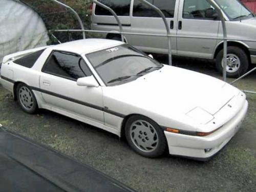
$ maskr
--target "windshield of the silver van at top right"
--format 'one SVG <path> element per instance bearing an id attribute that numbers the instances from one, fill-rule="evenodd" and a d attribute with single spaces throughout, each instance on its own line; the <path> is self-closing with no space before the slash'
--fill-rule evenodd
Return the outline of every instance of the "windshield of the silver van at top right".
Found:
<path id="1" fill-rule="evenodd" d="M 230 20 L 253 17 L 253 14 L 237 0 L 215 0 Z"/>

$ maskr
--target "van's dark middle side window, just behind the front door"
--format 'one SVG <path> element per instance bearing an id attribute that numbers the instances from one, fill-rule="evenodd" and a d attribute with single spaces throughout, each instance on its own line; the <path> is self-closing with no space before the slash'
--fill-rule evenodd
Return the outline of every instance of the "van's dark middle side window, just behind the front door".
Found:
<path id="1" fill-rule="evenodd" d="M 147 2 L 158 7 L 165 17 L 173 18 L 176 0 L 147 0 Z M 135 17 L 160 17 L 160 15 L 152 8 L 145 4 L 142 4 L 138 0 L 134 0 L 133 4 L 133 16 Z"/>

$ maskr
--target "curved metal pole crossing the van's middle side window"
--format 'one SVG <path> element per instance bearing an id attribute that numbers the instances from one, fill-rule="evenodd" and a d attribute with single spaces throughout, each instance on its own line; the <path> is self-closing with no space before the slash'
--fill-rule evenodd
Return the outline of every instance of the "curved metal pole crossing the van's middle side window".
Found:
<path id="1" fill-rule="evenodd" d="M 169 65 L 172 66 L 172 40 L 171 40 L 171 37 L 170 37 L 170 29 L 169 29 L 169 26 L 168 26 L 168 23 L 167 23 L 167 20 L 163 14 L 163 12 L 156 6 L 152 5 L 151 3 L 148 3 L 147 1 L 145 0 L 139 0 L 141 3 L 144 3 L 146 4 L 147 6 L 153 8 L 163 19 L 163 22 L 164 22 L 164 25 L 165 25 L 165 28 L 166 28 L 166 31 L 167 31 L 167 38 L 168 38 L 168 57 L 169 57 Z"/>

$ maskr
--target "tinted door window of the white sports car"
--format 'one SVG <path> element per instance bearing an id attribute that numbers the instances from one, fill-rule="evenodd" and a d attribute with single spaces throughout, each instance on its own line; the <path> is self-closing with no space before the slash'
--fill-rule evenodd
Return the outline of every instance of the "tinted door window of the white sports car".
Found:
<path id="1" fill-rule="evenodd" d="M 92 75 L 81 57 L 57 51 L 51 54 L 42 71 L 71 80 Z"/>

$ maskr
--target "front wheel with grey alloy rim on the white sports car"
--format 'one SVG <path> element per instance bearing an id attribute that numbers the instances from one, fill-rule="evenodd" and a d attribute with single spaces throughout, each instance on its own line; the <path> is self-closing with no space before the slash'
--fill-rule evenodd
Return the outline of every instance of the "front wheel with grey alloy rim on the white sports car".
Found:
<path id="1" fill-rule="evenodd" d="M 144 157 L 159 157 L 166 148 L 166 138 L 161 127 L 142 115 L 134 115 L 126 121 L 125 137 L 133 150 Z"/>

